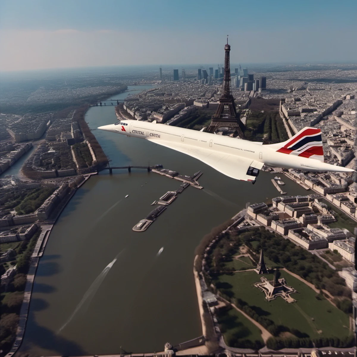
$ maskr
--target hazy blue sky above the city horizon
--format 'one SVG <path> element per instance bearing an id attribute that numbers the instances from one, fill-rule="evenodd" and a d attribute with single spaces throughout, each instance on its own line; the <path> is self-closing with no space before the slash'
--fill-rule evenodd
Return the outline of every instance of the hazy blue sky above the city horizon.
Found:
<path id="1" fill-rule="evenodd" d="M 357 1 L 0 0 L 0 70 L 357 62 Z"/>

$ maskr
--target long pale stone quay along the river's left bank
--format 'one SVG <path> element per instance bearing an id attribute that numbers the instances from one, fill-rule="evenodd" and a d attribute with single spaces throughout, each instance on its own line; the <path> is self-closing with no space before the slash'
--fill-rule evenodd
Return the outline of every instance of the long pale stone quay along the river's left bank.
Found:
<path id="1" fill-rule="evenodd" d="M 11 347 L 10 352 L 8 352 L 5 356 L 10 357 L 12 356 L 21 346 L 22 339 L 25 334 L 25 328 L 26 328 L 26 322 L 27 322 L 27 316 L 29 313 L 29 306 L 31 303 L 31 294 L 32 294 L 32 288 L 35 280 L 35 275 L 37 271 L 37 266 L 39 264 L 39 260 L 42 257 L 46 243 L 48 241 L 48 238 L 50 236 L 51 230 L 54 227 L 58 217 L 66 207 L 66 205 L 69 203 L 71 198 L 74 196 L 76 193 L 77 189 L 81 187 L 87 180 L 92 175 L 97 175 L 97 172 L 91 173 L 84 175 L 84 179 L 77 185 L 77 187 L 70 192 L 70 194 L 65 197 L 63 202 L 61 202 L 59 209 L 56 212 L 55 217 L 53 218 L 53 222 L 49 224 L 41 224 L 40 229 L 41 229 L 41 234 L 36 242 L 36 246 L 34 248 L 34 251 L 32 252 L 31 260 L 30 260 L 30 265 L 29 265 L 29 272 L 27 273 L 26 276 L 26 286 L 25 286 L 25 291 L 24 291 L 24 299 L 22 301 L 21 309 L 20 309 L 20 320 L 19 320 L 19 325 L 16 330 L 16 337 L 14 344 Z"/>

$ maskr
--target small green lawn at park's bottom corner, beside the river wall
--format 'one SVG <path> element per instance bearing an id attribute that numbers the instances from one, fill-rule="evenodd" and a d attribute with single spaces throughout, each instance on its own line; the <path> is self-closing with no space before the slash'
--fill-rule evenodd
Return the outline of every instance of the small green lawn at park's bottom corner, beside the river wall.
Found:
<path id="1" fill-rule="evenodd" d="M 236 309 L 231 308 L 225 315 L 217 317 L 227 344 L 233 336 L 239 336 L 242 340 L 258 340 L 264 343 L 259 328 Z"/>

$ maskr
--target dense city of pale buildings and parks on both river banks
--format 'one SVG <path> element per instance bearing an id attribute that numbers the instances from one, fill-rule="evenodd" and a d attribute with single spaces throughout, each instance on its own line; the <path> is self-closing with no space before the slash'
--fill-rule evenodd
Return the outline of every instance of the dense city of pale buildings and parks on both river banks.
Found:
<path id="1" fill-rule="evenodd" d="M 46 80 L 46 86 L 30 80 L 26 85 L 25 81 L 17 81 L 11 90 L 6 83 L 2 87 L 4 355 L 21 346 L 36 268 L 57 218 L 79 187 L 92 175 L 110 168 L 106 166 L 111 158 L 97 140 L 95 128 L 86 121 L 89 108 L 109 106 L 119 121 L 156 121 L 159 125 L 208 130 L 220 105 L 225 67 L 197 67 L 180 71 L 156 67 L 155 71 L 141 71 L 134 76 L 119 71 L 115 76 L 96 74 L 82 80 L 80 75 L 73 75 L 64 80 Z M 309 67 L 296 70 L 278 66 L 276 71 L 264 71 L 262 67 L 251 71 L 235 66 L 230 71 L 230 90 L 240 131 L 237 135 L 235 127 L 221 126 L 215 134 L 271 144 L 312 126 L 321 129 L 325 162 L 356 168 L 357 70 L 349 69 L 350 65 Z M 134 90 L 132 85 L 148 84 L 151 87 L 130 92 Z M 120 102 L 105 100 L 125 92 L 127 96 Z M 8 175 L 8 170 L 24 157 L 16 174 Z M 130 172 L 131 167 L 136 166 L 110 170 L 126 168 Z M 186 182 L 183 188 L 189 184 L 199 186 L 195 177 L 200 171 L 183 176 L 160 165 L 154 167 L 156 171 L 148 165 L 147 171 L 176 177 Z M 240 207 L 243 209 L 232 219 L 226 217 L 228 221 L 219 227 L 212 229 L 206 222 L 207 230 L 212 231 L 196 248 L 192 265 L 202 336 L 176 346 L 166 343 L 159 353 L 140 352 L 150 356 L 270 356 L 288 352 L 319 356 L 327 353 L 324 351 L 331 354 L 331 350 L 336 354 L 355 353 L 356 172 L 312 173 L 268 166 L 262 171 L 271 175 L 277 196 L 267 200 L 262 197 L 263 202 L 246 202 L 245 208 Z M 283 191 L 282 177 L 297 183 L 306 195 L 288 195 Z M 153 222 L 176 193 L 168 191 L 169 196 L 152 203 L 159 203 L 158 208 L 142 221 Z M 139 221 L 140 217 L 136 218 Z M 133 230 L 141 231 L 141 227 L 134 226 Z M 292 312 L 290 306 L 296 311 Z M 329 327 L 333 324 L 335 328 Z"/>

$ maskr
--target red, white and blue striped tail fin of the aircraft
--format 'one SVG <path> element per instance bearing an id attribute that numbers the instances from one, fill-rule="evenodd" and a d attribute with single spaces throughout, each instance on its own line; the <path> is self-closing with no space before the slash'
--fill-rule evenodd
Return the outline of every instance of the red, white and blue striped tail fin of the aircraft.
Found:
<path id="1" fill-rule="evenodd" d="M 268 145 L 277 152 L 309 157 L 323 162 L 321 130 L 306 126 L 289 140 Z"/>

